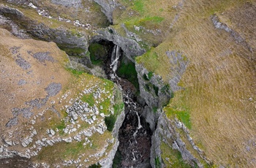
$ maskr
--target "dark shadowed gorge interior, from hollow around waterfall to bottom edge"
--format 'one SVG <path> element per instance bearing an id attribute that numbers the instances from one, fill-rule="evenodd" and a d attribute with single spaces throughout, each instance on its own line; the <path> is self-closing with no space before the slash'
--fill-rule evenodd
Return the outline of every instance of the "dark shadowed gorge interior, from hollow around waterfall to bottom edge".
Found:
<path id="1" fill-rule="evenodd" d="M 120 143 L 113 167 L 151 167 L 152 131 L 141 116 L 145 104 L 139 104 L 137 101 L 139 84 L 135 64 L 124 56 L 121 48 L 108 40 L 97 39 L 91 44 L 93 47 L 101 47 L 90 50 L 91 58 L 97 58 L 97 62 L 92 62 L 101 65 L 108 79 L 117 83 L 123 91 L 126 117 L 119 129 Z M 89 49 L 93 47 L 90 45 Z M 116 58 L 118 61 L 115 62 Z M 113 68 L 114 64 L 116 69 Z"/>

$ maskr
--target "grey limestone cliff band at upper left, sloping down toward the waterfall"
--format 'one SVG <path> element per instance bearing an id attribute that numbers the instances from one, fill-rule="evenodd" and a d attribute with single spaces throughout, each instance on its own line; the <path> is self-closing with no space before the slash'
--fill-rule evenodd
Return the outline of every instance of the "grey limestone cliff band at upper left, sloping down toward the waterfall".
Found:
<path id="1" fill-rule="evenodd" d="M 43 23 L 38 23 L 37 20 L 30 20 L 18 9 L 4 5 L 0 7 L 0 14 L 12 20 L 18 29 L 22 28 L 23 34 L 47 42 L 56 42 L 63 50 L 69 49 L 71 56 L 86 56 L 88 52 L 88 39 L 83 34 L 73 34 L 65 28 L 49 28 Z M 13 31 L 12 33 L 17 34 Z"/>

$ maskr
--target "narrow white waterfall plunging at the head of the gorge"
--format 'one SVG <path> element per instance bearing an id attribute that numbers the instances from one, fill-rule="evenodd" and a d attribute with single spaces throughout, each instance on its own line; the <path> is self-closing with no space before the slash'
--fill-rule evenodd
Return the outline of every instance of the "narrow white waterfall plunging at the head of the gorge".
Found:
<path id="1" fill-rule="evenodd" d="M 119 59 L 120 55 L 121 55 L 120 47 L 115 45 L 113 47 L 113 51 L 111 53 L 111 64 L 110 64 L 110 69 L 113 70 L 113 74 L 110 75 L 112 80 L 117 77 L 116 69 L 117 69 L 117 66 L 118 66 L 118 59 Z"/>

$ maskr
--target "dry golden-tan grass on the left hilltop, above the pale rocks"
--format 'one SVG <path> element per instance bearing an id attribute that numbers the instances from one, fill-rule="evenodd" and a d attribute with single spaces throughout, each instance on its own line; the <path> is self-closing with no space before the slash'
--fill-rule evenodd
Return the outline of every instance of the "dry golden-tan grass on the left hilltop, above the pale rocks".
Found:
<path id="1" fill-rule="evenodd" d="M 12 108 L 25 108 L 28 107 L 26 102 L 30 100 L 45 98 L 47 96 L 45 88 L 50 83 L 61 83 L 62 87 L 66 87 L 71 75 L 64 70 L 64 64 L 68 61 L 67 55 L 59 50 L 55 43 L 17 39 L 4 29 L 0 29 L 0 37 L 0 131 L 3 136 L 14 131 L 15 140 L 19 141 L 20 138 L 26 137 L 29 132 L 30 124 L 26 123 L 29 118 L 23 118 L 20 114 L 18 117 L 19 125 L 7 129 L 5 124 L 13 118 Z M 18 53 L 11 53 L 11 47 L 20 47 L 20 49 L 18 49 Z M 33 58 L 28 51 L 32 53 L 50 52 L 50 56 L 53 56 L 55 61 L 45 61 L 47 65 L 45 66 Z M 24 70 L 15 63 L 18 54 L 31 65 L 30 69 Z M 26 84 L 18 85 L 20 80 L 26 80 Z M 56 101 L 56 96 L 50 97 L 45 106 L 52 106 L 50 105 L 52 100 Z M 34 108 L 31 111 L 34 112 L 33 115 L 37 115 L 38 112 L 42 112 L 42 109 Z M 18 150 L 18 147 L 15 150 Z"/>

